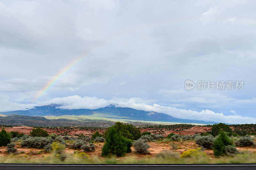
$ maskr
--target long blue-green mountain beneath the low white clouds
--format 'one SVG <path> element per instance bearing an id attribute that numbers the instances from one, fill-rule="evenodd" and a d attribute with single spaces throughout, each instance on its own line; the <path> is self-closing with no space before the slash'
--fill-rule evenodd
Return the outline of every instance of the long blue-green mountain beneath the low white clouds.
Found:
<path id="1" fill-rule="evenodd" d="M 50 104 L 46 106 L 36 106 L 29 110 L 17 110 L 17 111 L 9 111 L 9 112 L 0 112 L 3 115 L 25 115 L 28 116 L 28 119 L 32 116 L 61 116 L 61 115 L 94 115 L 101 114 L 103 117 L 111 118 L 111 117 L 120 117 L 127 118 L 134 121 L 164 121 L 164 122 L 178 122 L 178 123 L 197 123 L 197 124 L 215 124 L 216 122 L 206 122 L 201 120 L 190 120 L 190 119 L 180 119 L 175 118 L 167 114 L 157 113 L 154 111 L 143 111 L 136 110 L 132 108 L 121 108 L 116 107 L 115 105 L 109 105 L 104 108 L 99 109 L 72 109 L 72 110 L 63 110 L 59 109 L 61 105 Z M 10 115 L 10 116 L 11 116 Z M 6 117 L 5 117 L 6 118 Z M 25 117 L 24 117 L 25 118 Z M 30 120 L 30 119 L 29 119 Z M 48 120 L 48 119 L 47 119 Z"/>

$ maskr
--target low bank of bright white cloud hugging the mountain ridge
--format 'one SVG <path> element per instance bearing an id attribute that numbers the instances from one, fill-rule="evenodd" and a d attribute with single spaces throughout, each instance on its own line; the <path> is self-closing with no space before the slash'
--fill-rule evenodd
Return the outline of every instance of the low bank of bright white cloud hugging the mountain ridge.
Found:
<path id="1" fill-rule="evenodd" d="M 225 116 L 223 113 L 215 113 L 211 110 L 202 110 L 200 112 L 193 110 L 177 109 L 175 107 L 161 106 L 159 104 L 149 105 L 146 103 L 152 103 L 154 101 L 145 100 L 140 98 L 112 98 L 110 100 L 98 99 L 97 97 L 80 97 L 80 96 L 68 96 L 63 98 L 54 98 L 52 100 L 38 103 L 38 104 L 62 104 L 61 109 L 97 109 L 102 108 L 110 104 L 115 104 L 117 107 L 129 107 L 137 110 L 156 111 L 171 115 L 172 117 L 183 119 L 204 120 L 213 122 L 224 122 L 233 124 L 242 123 L 256 123 L 256 118 L 244 117 L 244 116 Z"/>

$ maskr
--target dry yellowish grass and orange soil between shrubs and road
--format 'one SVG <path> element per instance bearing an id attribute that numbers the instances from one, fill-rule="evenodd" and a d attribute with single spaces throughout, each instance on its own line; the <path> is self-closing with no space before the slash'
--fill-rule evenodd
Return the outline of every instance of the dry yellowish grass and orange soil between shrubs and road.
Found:
<path id="1" fill-rule="evenodd" d="M 152 164 L 206 164 L 206 163 L 256 163 L 256 148 L 255 147 L 238 147 L 238 150 L 241 152 L 235 157 L 220 157 L 214 158 L 212 150 L 205 150 L 206 153 L 200 157 L 191 157 L 191 158 L 181 158 L 179 155 L 188 150 L 195 149 L 198 145 L 195 144 L 195 141 L 183 141 L 183 142 L 173 142 L 173 141 L 157 141 L 157 142 L 148 142 L 150 145 L 148 154 L 138 154 L 132 147 L 132 153 L 126 154 L 124 157 L 111 157 L 103 158 L 100 156 L 101 147 L 104 143 L 96 143 L 94 152 L 87 152 L 88 156 L 78 156 L 74 154 L 73 149 L 66 148 L 65 153 L 67 159 L 63 162 L 60 159 L 54 157 L 53 153 L 43 153 L 39 149 L 34 148 L 20 148 L 18 145 L 18 154 L 7 154 L 6 147 L 0 147 L 0 163 L 77 163 L 77 164 L 103 164 L 103 163 L 119 163 L 119 164 L 140 164 L 140 163 L 152 163 Z M 177 146 L 173 148 L 172 145 Z M 179 147 L 181 149 L 179 149 Z M 24 153 L 20 153 L 20 152 Z M 174 152 L 178 156 L 161 156 L 156 157 L 159 153 L 163 152 Z M 39 153 L 38 153 L 39 152 Z M 81 152 L 81 151 L 80 151 Z"/>

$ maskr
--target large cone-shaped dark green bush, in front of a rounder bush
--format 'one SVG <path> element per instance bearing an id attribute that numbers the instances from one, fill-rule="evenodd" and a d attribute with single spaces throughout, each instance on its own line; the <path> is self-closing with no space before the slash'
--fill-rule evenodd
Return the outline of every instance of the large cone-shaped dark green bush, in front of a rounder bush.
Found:
<path id="1" fill-rule="evenodd" d="M 115 127 L 109 129 L 105 145 L 102 148 L 102 156 L 116 155 L 118 157 L 124 156 L 129 150 L 127 145 L 127 139 L 125 139 L 120 132 L 116 131 Z"/>

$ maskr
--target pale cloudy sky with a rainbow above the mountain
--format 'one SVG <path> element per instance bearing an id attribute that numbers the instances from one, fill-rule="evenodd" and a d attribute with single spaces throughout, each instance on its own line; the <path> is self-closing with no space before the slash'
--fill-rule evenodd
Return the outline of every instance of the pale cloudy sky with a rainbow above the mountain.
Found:
<path id="1" fill-rule="evenodd" d="M 115 104 L 256 123 L 255 1 L 0 2 L 0 111 Z M 195 83 L 185 89 L 185 81 Z M 244 81 L 243 89 L 197 89 Z"/>

